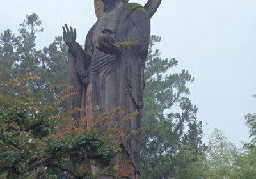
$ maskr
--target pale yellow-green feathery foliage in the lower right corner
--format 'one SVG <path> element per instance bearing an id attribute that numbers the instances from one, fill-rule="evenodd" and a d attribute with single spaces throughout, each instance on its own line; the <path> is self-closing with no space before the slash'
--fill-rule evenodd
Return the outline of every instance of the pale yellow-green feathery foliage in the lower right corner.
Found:
<path id="1" fill-rule="evenodd" d="M 202 178 L 256 178 L 256 150 L 245 146 L 237 149 L 227 142 L 223 132 L 215 130 L 209 139 L 205 157 L 197 165 L 202 166 Z"/>

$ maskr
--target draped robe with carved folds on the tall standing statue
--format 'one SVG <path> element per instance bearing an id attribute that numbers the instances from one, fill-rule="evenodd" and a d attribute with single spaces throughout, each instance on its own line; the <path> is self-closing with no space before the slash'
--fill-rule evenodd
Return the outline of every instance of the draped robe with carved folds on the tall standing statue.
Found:
<path id="1" fill-rule="evenodd" d="M 115 44 L 121 47 L 119 56 L 104 54 L 96 48 L 102 29 L 113 31 Z M 70 109 L 93 109 L 98 105 L 102 111 L 120 107 L 126 114 L 139 112 L 122 127 L 122 132 L 130 137 L 123 144 L 124 155 L 116 160 L 123 164 L 125 162 L 120 160 L 131 160 L 138 174 L 141 172 L 140 134 L 129 134 L 141 126 L 149 36 L 150 18 L 145 9 L 139 4 L 124 4 L 96 22 L 88 32 L 84 49 L 77 43 L 75 54 L 69 52 L 69 82 L 79 92 L 70 100 Z M 88 114 L 75 112 L 72 116 L 79 119 L 91 114 L 92 111 Z M 120 173 L 127 175 L 125 171 L 122 172 L 122 164 L 118 165 L 121 167 Z"/>

